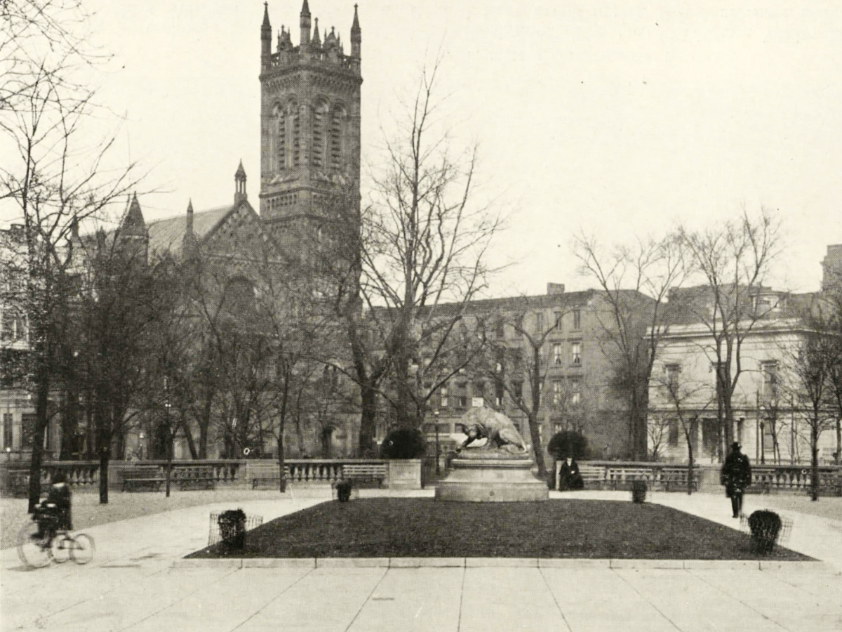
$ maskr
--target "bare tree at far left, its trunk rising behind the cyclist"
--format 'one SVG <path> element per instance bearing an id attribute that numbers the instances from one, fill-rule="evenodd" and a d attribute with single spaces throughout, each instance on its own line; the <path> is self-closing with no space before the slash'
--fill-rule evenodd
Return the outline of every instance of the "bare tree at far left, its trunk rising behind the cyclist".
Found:
<path id="1" fill-rule="evenodd" d="M 105 169 L 114 137 L 86 145 L 83 123 L 93 94 L 65 94 L 56 73 L 35 70 L 14 110 L 0 111 L 3 147 L 17 153 L 0 167 L 0 204 L 17 212 L 24 230 L 27 281 L 23 311 L 29 316 L 29 374 L 35 391 L 35 431 L 29 508 L 40 495 L 48 401 L 59 356 L 56 319 L 67 309 L 73 265 L 72 233 L 80 222 L 109 212 L 136 185 L 131 165 Z M 11 155 L 11 153 L 9 154 Z"/>

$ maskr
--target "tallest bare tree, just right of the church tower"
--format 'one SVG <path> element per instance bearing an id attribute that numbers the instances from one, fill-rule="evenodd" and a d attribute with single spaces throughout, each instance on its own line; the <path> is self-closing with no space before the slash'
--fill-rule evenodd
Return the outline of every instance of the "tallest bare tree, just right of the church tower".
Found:
<path id="1" fill-rule="evenodd" d="M 419 380 L 413 367 L 424 355 L 444 362 L 466 303 L 492 271 L 485 255 L 501 223 L 473 200 L 476 148 L 456 153 L 449 131 L 439 132 L 438 70 L 436 62 L 422 72 L 406 120 L 386 140 L 370 204 L 359 217 L 345 216 L 347 254 L 330 253 L 340 266 L 333 281 L 341 280 L 334 291 L 349 338 L 349 376 L 360 387 L 361 453 L 371 449 L 382 395 L 400 425 L 421 425 L 445 375 Z"/>

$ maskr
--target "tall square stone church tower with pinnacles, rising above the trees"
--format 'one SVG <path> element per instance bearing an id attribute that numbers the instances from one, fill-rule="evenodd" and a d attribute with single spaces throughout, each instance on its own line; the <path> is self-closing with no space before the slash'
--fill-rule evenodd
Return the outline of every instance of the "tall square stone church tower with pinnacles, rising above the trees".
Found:
<path id="1" fill-rule="evenodd" d="M 307 0 L 299 17 L 298 46 L 282 25 L 272 51 L 268 5 L 260 29 L 260 217 L 281 244 L 299 243 L 298 231 L 320 230 L 338 199 L 356 213 L 360 205 L 357 7 L 350 55 L 333 27 L 319 33 Z"/>

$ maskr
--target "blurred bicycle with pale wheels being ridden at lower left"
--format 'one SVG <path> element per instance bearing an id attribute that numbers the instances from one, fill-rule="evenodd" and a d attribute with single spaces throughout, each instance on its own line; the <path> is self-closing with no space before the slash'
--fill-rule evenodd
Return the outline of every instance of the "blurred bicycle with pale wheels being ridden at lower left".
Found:
<path id="1" fill-rule="evenodd" d="M 18 533 L 18 557 L 29 568 L 42 568 L 51 561 L 62 564 L 73 560 L 88 564 L 93 560 L 93 538 L 87 533 L 75 535 L 56 528 L 58 518 L 50 507 L 37 505 L 32 520 Z"/>

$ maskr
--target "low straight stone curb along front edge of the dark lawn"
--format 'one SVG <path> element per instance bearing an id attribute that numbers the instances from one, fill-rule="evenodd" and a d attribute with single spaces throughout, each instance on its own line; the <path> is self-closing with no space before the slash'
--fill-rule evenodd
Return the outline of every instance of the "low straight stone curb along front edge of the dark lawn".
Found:
<path id="1" fill-rule="evenodd" d="M 623 570 L 834 570 L 802 560 L 615 560 L 589 558 L 322 557 L 179 558 L 171 568 L 560 568 Z"/>

